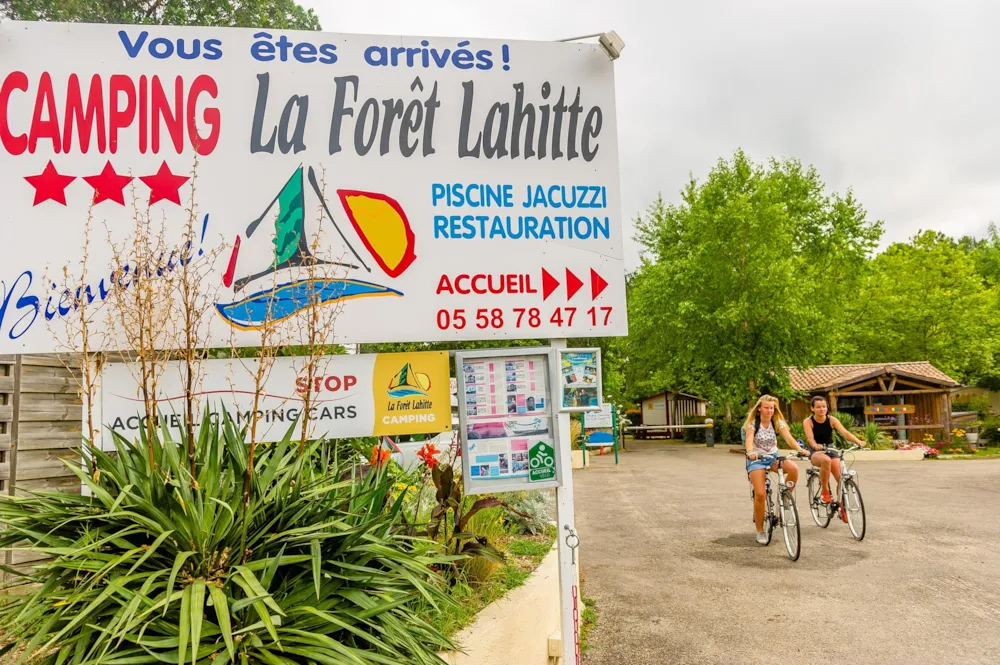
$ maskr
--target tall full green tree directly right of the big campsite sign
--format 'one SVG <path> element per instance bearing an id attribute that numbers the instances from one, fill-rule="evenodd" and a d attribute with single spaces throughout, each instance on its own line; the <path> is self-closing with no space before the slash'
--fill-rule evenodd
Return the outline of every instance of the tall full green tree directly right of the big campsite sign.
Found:
<path id="1" fill-rule="evenodd" d="M 742 151 L 637 228 L 647 253 L 629 284 L 629 390 L 687 390 L 727 411 L 763 388 L 787 393 L 784 367 L 839 352 L 840 313 L 882 232 L 813 168 Z"/>

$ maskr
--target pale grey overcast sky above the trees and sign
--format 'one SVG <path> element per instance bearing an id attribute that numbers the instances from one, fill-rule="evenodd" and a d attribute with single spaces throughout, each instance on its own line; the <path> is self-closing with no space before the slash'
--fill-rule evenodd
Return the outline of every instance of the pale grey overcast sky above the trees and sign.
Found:
<path id="1" fill-rule="evenodd" d="M 795 157 L 885 222 L 982 235 L 1000 208 L 1000 3 L 954 0 L 300 0 L 323 30 L 561 39 L 616 30 L 631 220 L 742 147 Z"/>

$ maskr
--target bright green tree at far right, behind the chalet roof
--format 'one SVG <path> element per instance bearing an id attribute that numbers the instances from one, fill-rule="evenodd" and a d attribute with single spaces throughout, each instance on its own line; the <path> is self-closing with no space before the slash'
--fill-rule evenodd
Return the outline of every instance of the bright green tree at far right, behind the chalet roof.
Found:
<path id="1" fill-rule="evenodd" d="M 857 360 L 929 360 L 959 381 L 1000 378 L 1000 287 L 941 233 L 896 243 L 872 263 L 853 329 Z"/>

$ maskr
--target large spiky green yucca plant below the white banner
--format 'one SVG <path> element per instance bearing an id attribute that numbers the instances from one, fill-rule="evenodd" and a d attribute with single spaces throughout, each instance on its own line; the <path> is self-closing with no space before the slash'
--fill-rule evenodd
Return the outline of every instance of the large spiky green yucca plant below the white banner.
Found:
<path id="1" fill-rule="evenodd" d="M 91 496 L 0 497 L 0 547 L 49 557 L 3 597 L 0 631 L 20 642 L 3 652 L 43 665 L 442 663 L 453 645 L 411 610 L 454 602 L 432 572 L 453 557 L 405 534 L 385 467 L 323 460 L 320 442 L 300 454 L 293 430 L 257 446 L 246 507 L 244 432 L 207 417 L 197 477 L 164 429 L 67 463 Z"/>

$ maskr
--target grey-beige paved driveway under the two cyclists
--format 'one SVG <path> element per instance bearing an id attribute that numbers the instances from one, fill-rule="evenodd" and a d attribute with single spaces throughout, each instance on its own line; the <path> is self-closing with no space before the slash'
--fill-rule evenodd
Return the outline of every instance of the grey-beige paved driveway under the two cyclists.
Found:
<path id="1" fill-rule="evenodd" d="M 1000 662 L 1000 460 L 856 463 L 860 543 L 813 524 L 803 472 L 792 562 L 780 531 L 754 540 L 728 446 L 629 449 L 574 474 L 600 613 L 584 665 Z"/>

